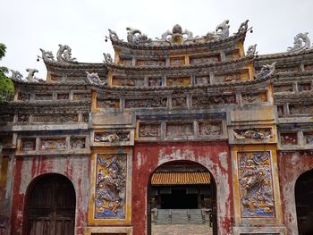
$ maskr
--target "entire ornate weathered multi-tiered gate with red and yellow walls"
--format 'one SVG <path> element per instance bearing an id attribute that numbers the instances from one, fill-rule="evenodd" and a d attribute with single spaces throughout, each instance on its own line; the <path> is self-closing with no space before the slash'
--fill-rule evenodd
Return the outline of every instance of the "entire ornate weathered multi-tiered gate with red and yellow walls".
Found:
<path id="1" fill-rule="evenodd" d="M 203 37 L 180 25 L 155 40 L 127 30 L 127 41 L 109 30 L 115 55 L 104 63 L 78 63 L 59 45 L 56 58 L 41 49 L 47 80 L 13 71 L 14 100 L 0 104 L 0 233 L 28 233 L 28 189 L 56 173 L 75 191 L 77 235 L 151 234 L 162 209 L 171 226 L 155 234 L 186 233 L 179 224 L 298 234 L 310 212 L 297 219 L 294 188 L 313 168 L 307 33 L 286 52 L 258 55 L 243 47 L 248 21 L 233 35 L 228 21 Z M 200 231 L 209 225 L 197 210 L 212 212 L 214 230 Z"/>

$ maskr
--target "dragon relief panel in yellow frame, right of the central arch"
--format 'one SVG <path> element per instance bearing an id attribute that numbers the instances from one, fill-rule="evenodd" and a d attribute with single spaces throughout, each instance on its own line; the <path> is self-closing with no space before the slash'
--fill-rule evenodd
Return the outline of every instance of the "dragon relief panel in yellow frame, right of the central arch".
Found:
<path id="1" fill-rule="evenodd" d="M 275 217 L 270 151 L 239 152 L 242 217 Z"/>

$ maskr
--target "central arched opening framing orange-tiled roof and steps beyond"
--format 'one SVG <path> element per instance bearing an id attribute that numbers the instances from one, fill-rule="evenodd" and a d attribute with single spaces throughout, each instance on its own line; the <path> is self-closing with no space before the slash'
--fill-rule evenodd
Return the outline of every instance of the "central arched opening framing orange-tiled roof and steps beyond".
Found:
<path id="1" fill-rule="evenodd" d="M 217 234 L 216 183 L 207 168 L 190 161 L 174 161 L 152 173 L 148 186 L 148 234 L 161 234 L 160 231 Z"/>

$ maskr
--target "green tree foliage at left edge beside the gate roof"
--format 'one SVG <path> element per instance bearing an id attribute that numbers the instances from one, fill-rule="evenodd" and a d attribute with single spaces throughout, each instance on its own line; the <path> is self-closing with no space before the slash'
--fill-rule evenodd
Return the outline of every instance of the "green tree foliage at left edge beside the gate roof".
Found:
<path id="1" fill-rule="evenodd" d="M 0 60 L 4 57 L 6 46 L 0 43 Z M 0 102 L 13 100 L 14 85 L 5 74 L 8 72 L 8 68 L 0 66 Z"/>

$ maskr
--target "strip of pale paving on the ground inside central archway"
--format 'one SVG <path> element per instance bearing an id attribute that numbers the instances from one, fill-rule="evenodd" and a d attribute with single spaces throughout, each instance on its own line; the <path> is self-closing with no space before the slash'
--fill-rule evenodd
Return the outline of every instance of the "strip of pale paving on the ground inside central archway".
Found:
<path id="1" fill-rule="evenodd" d="M 151 224 L 152 235 L 211 235 L 213 229 L 208 225 L 204 224 Z"/>

